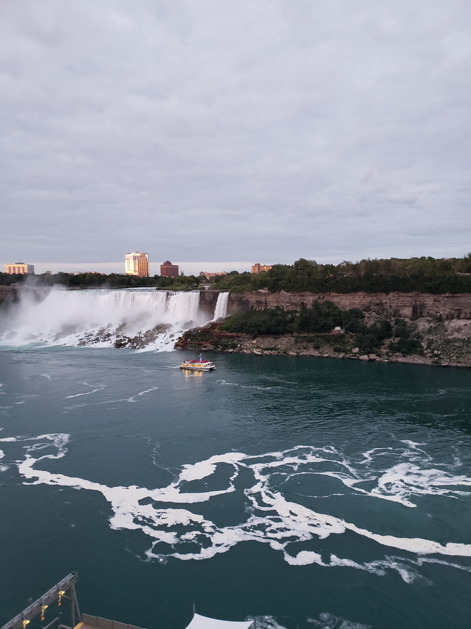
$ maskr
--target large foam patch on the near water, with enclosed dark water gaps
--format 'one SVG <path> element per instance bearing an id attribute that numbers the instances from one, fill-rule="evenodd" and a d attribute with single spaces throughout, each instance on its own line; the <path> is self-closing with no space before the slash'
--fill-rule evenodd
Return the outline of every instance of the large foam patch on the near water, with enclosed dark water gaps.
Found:
<path id="1" fill-rule="evenodd" d="M 471 572 L 471 567 L 441 559 L 471 557 L 471 544 L 453 540 L 439 543 L 420 537 L 375 533 L 364 526 L 306 506 L 308 501 L 312 504 L 313 499 L 325 496 L 313 496 L 299 489 L 293 491 L 301 477 L 303 482 L 311 479 L 311 487 L 315 487 L 322 477 L 329 477 L 344 488 L 344 494 L 337 491 L 333 495 L 355 494 L 370 501 L 392 501 L 397 503 L 396 509 L 414 508 L 414 499 L 425 495 L 457 499 L 468 497 L 471 478 L 464 474 L 453 475 L 451 471 L 440 469 L 440 466 L 431 466 L 430 457 L 418 443 L 402 442 L 404 446 L 400 448 L 375 448 L 363 453 L 354 462 L 345 459 L 333 447 L 300 445 L 256 456 L 227 452 L 183 465 L 178 477 L 168 486 L 147 489 L 138 486 L 108 487 L 40 469 L 41 461 L 60 459 L 67 454 L 68 440 L 65 433 L 0 439 L 2 447 L 16 447 L 9 462 L 0 450 L 3 470 L 17 465 L 26 484 L 32 486 L 48 484 L 101 493 L 111 504 L 113 515 L 109 523 L 112 529 L 140 531 L 149 537 L 151 545 L 145 553 L 148 560 L 165 563 L 170 557 L 180 560 L 210 559 L 238 543 L 256 541 L 282 553 L 290 565 L 350 567 L 377 576 L 393 570 L 408 583 L 428 582 L 418 571 L 427 562 Z M 25 450 L 21 460 L 18 447 Z M 43 454 L 37 456 L 41 451 Z M 388 462 L 394 458 L 401 462 L 388 467 L 384 465 L 385 457 Z M 208 488 L 212 485 L 214 489 Z M 370 487 L 366 488 L 367 485 Z M 309 486 L 304 484 L 304 487 Z M 227 506 L 231 494 L 238 501 L 241 497 L 244 500 L 244 511 L 240 513 L 239 509 L 239 517 L 243 521 L 224 523 L 221 518 L 228 517 L 225 513 L 234 517 L 234 509 L 218 508 L 214 513 L 215 504 L 218 504 L 218 497 L 224 496 Z M 190 505 L 193 505 L 192 509 Z M 212 513 L 211 517 L 205 515 L 205 509 Z M 400 516 L 398 513 L 396 525 Z M 332 552 L 326 555 L 316 545 L 316 540 L 326 540 L 347 532 L 370 540 L 376 554 L 379 554 L 377 559 L 360 562 Z M 311 549 L 306 550 L 306 542 L 311 543 Z M 302 550 L 296 548 L 300 543 Z M 385 550 L 389 553 L 400 550 L 413 556 L 383 555 Z"/>

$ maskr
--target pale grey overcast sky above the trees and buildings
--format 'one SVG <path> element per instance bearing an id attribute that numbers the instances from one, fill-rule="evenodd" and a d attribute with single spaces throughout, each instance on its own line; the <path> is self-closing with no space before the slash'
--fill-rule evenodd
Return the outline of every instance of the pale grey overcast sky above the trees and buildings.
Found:
<path id="1" fill-rule="evenodd" d="M 471 250 L 469 0 L 1 0 L 3 262 Z"/>

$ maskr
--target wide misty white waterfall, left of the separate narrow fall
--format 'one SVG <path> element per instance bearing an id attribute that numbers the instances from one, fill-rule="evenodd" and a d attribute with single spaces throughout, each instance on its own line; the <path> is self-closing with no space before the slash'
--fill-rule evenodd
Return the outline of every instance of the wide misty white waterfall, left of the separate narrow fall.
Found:
<path id="1" fill-rule="evenodd" d="M 1 322 L 3 345 L 48 343 L 111 347 L 134 338 L 134 347 L 173 349 L 175 333 L 207 323 L 199 291 L 51 291 L 38 303 L 24 292 Z"/>

